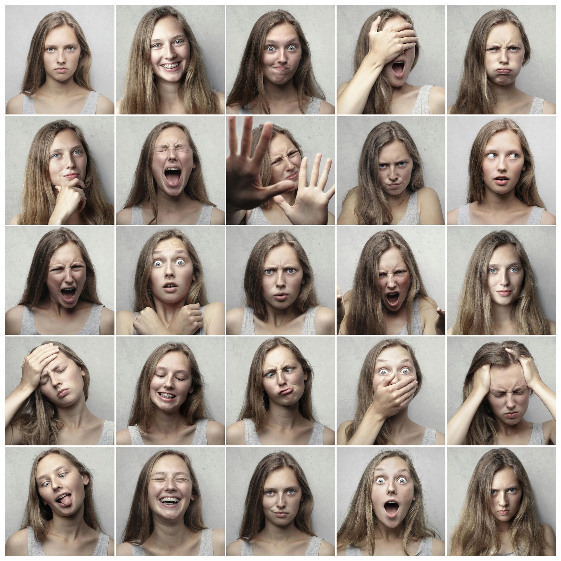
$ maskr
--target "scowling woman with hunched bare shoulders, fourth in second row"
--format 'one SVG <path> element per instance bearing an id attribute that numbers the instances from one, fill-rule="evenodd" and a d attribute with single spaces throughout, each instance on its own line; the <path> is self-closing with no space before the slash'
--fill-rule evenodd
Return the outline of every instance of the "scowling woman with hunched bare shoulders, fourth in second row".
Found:
<path id="1" fill-rule="evenodd" d="M 358 185 L 345 196 L 337 224 L 444 224 L 415 141 L 397 121 L 376 125 L 366 137 Z"/>

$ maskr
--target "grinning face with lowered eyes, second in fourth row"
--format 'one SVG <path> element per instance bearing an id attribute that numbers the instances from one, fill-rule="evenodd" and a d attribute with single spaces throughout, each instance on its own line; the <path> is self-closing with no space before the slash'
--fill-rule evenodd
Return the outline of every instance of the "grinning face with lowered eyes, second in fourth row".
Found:
<path id="1" fill-rule="evenodd" d="M 191 364 L 185 353 L 165 353 L 150 380 L 150 401 L 161 411 L 177 411 L 193 392 L 192 381 Z"/>

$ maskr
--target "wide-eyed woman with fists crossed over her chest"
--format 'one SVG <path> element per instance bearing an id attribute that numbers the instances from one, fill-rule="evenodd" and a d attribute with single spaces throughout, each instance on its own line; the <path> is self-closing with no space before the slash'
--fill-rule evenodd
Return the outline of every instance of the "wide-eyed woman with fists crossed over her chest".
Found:
<path id="1" fill-rule="evenodd" d="M 224 335 L 224 304 L 206 300 L 203 265 L 176 228 L 142 247 L 133 309 L 117 312 L 117 335 Z"/>

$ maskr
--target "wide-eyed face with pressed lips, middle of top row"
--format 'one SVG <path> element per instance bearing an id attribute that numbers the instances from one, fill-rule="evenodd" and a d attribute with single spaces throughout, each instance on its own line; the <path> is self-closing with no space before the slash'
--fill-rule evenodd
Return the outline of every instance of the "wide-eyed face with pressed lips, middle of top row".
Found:
<path id="1" fill-rule="evenodd" d="M 272 84 L 286 84 L 295 75 L 302 45 L 292 24 L 284 22 L 269 30 L 263 50 L 263 77 Z"/>

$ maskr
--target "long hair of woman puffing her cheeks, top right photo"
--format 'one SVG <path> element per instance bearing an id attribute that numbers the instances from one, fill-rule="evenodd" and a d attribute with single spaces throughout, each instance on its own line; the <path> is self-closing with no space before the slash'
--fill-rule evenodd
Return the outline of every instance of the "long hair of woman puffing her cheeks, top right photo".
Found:
<path id="1" fill-rule="evenodd" d="M 506 8 L 484 13 L 473 27 L 470 40 L 467 42 L 458 96 L 456 103 L 450 108 L 450 114 L 492 115 L 495 113 L 493 90 L 485 70 L 485 48 L 491 27 L 506 23 L 516 25 L 522 37 L 524 45 L 522 66 L 530 60 L 530 42 L 522 22 L 516 15 Z"/>

